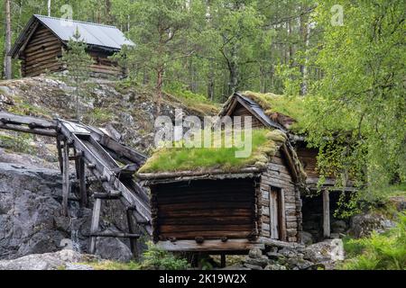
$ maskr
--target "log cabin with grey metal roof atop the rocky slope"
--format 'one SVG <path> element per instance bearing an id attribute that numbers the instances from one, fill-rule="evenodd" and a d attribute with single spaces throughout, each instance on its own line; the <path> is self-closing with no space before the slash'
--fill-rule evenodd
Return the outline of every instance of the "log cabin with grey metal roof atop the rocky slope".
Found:
<path id="1" fill-rule="evenodd" d="M 32 15 L 9 55 L 21 60 L 22 76 L 63 71 L 66 67 L 59 58 L 77 30 L 80 40 L 88 45 L 88 54 L 94 59 L 90 66 L 91 76 L 125 77 L 125 68 L 119 67 L 110 57 L 124 45 L 134 46 L 134 42 L 126 39 L 115 26 Z"/>

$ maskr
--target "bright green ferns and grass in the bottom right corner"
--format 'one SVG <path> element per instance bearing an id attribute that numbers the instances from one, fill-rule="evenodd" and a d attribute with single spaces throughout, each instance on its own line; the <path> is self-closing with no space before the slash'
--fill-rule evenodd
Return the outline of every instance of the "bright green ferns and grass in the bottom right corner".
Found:
<path id="1" fill-rule="evenodd" d="M 385 234 L 373 233 L 370 238 L 346 239 L 347 259 L 339 268 L 346 270 L 405 270 L 406 214 L 400 215 L 397 226 Z"/>

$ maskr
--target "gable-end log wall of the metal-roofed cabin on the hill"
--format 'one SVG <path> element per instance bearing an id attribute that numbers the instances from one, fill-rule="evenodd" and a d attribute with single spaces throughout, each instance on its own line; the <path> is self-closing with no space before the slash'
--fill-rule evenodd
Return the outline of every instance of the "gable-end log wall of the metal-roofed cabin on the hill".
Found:
<path id="1" fill-rule="evenodd" d="M 21 55 L 23 76 L 38 76 L 45 71 L 61 70 L 58 61 L 62 55 L 62 43 L 52 32 L 39 25 L 33 32 Z"/>

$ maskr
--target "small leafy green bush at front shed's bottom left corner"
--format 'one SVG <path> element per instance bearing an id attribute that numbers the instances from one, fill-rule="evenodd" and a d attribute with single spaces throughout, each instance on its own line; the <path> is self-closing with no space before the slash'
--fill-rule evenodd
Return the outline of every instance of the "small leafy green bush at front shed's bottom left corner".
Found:
<path id="1" fill-rule="evenodd" d="M 148 242 L 148 250 L 143 254 L 143 269 L 159 270 L 186 270 L 189 268 L 188 261 L 175 257 L 168 251 L 164 251 Z"/>

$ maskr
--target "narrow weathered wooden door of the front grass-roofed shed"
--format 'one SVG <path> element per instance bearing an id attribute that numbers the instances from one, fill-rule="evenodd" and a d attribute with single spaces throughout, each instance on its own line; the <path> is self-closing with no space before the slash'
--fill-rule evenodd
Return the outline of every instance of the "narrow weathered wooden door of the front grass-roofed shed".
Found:
<path id="1" fill-rule="evenodd" d="M 283 223 L 283 197 L 281 188 L 270 186 L 269 193 L 269 216 L 271 238 L 284 240 Z"/>

